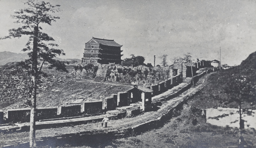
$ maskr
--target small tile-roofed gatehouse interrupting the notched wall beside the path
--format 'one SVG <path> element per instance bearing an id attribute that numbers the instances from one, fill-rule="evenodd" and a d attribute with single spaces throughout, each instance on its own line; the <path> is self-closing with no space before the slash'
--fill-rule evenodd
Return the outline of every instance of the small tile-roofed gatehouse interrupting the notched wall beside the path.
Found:
<path id="1" fill-rule="evenodd" d="M 137 87 L 127 90 L 129 102 L 131 103 L 138 103 L 141 102 L 141 108 L 143 111 L 147 112 L 150 111 L 152 108 L 152 90 L 148 89 L 147 87 Z"/>

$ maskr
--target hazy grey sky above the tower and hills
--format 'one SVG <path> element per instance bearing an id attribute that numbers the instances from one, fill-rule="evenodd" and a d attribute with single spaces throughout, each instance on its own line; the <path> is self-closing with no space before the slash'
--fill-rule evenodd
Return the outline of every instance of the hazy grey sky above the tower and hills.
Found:
<path id="1" fill-rule="evenodd" d="M 38 0 L 40 1 L 40 0 Z M 11 17 L 26 0 L 0 0 L 0 37 L 21 24 Z M 43 31 L 52 36 L 66 56 L 81 59 L 92 37 L 114 39 L 123 45 L 122 59 L 131 54 L 144 63 L 161 63 L 168 55 L 191 53 L 192 59 L 220 60 L 239 65 L 256 51 L 255 0 L 45 0 L 61 5 L 61 12 Z M 28 37 L 1 39 L 0 52 L 23 53 Z M 221 49 L 221 50 L 220 50 Z"/>

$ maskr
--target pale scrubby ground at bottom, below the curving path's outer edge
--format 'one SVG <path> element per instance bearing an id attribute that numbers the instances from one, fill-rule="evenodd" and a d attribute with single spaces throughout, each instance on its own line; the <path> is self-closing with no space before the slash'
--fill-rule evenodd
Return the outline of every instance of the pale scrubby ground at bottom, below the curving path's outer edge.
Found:
<path id="1" fill-rule="evenodd" d="M 215 75 L 215 73 L 213 73 Z M 200 79 L 198 84 L 207 84 L 209 75 Z M 209 81 L 208 81 L 209 82 Z M 196 84 L 196 85 L 198 85 Z M 106 140 L 95 144 L 87 143 L 79 145 L 65 145 L 66 148 L 227 148 L 236 147 L 239 139 L 239 129 L 230 127 L 212 126 L 206 123 L 206 118 L 201 115 L 200 109 L 207 106 L 218 106 L 218 102 L 204 97 L 202 89 L 198 95 L 192 97 L 183 105 L 175 117 L 169 120 L 162 128 L 147 131 L 136 137 Z M 247 129 L 242 132 L 247 145 L 256 148 L 256 131 Z M 82 145 L 82 146 L 81 146 Z M 63 146 L 60 148 L 64 148 Z"/>

